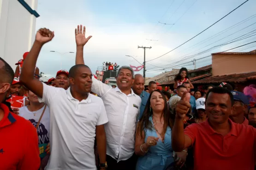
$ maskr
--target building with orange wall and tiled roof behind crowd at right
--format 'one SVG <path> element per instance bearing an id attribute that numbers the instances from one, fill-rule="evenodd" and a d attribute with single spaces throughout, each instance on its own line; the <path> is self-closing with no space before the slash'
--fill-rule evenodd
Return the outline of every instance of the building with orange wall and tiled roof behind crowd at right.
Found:
<path id="1" fill-rule="evenodd" d="M 188 72 L 195 89 L 208 84 L 232 83 L 237 90 L 256 84 L 256 50 L 250 52 L 217 52 L 212 64 Z M 161 83 L 172 88 L 174 80 Z"/>

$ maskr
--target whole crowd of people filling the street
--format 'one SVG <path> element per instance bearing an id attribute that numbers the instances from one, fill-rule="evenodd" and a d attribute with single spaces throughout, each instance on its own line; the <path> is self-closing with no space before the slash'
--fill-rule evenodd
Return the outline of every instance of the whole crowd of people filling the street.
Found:
<path id="1" fill-rule="evenodd" d="M 82 25 L 75 65 L 44 83 L 36 62 L 53 38 L 39 29 L 17 73 L 0 58 L 0 170 L 254 170 L 255 85 L 191 92 L 181 68 L 174 91 L 154 81 L 145 89 L 143 76 L 122 66 L 113 88 L 85 65 L 91 36 Z"/>

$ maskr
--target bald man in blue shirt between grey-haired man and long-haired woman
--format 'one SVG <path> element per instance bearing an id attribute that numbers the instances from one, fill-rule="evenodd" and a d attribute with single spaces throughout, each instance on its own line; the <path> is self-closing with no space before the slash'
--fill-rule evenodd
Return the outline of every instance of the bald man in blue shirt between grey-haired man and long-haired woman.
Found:
<path id="1" fill-rule="evenodd" d="M 144 88 L 145 88 L 144 84 L 145 84 L 145 80 L 143 76 L 141 74 L 135 74 L 132 90 L 135 94 L 137 94 L 141 98 L 140 115 L 138 119 L 142 117 L 144 108 L 149 98 L 149 93 L 144 91 Z"/>

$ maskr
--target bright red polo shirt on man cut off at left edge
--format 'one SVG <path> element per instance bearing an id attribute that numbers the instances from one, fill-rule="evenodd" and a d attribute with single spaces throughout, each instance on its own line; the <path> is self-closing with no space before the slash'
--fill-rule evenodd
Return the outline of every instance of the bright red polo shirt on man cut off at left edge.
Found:
<path id="1" fill-rule="evenodd" d="M 0 170 L 38 170 L 40 157 L 36 128 L 0 103 Z"/>

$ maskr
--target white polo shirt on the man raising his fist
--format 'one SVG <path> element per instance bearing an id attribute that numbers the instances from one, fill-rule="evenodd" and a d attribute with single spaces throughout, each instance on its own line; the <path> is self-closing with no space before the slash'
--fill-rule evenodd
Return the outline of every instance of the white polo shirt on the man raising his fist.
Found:
<path id="1" fill-rule="evenodd" d="M 46 170 L 97 170 L 94 142 L 97 125 L 108 122 L 100 97 L 89 94 L 79 102 L 67 90 L 43 84 L 44 101 L 50 109 L 51 156 Z"/>

